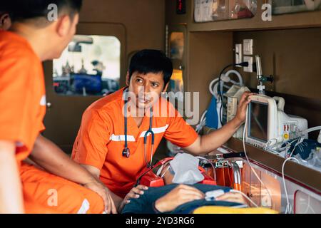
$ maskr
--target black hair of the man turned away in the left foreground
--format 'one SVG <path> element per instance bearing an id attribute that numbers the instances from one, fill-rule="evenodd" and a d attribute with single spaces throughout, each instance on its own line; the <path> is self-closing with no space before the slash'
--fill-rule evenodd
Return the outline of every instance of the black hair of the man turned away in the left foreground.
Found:
<path id="1" fill-rule="evenodd" d="M 56 4 L 58 15 L 66 12 L 73 19 L 81 11 L 82 0 L 6 0 L 0 8 L 9 12 L 12 21 L 26 21 L 47 19 L 50 4 Z"/>

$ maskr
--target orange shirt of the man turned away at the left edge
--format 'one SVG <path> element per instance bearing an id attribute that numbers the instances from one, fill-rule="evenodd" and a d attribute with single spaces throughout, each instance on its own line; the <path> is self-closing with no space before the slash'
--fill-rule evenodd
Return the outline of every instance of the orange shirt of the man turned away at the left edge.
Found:
<path id="1" fill-rule="evenodd" d="M 29 156 L 46 113 L 41 61 L 28 41 L 0 31 L 0 140 L 16 142 L 20 163 Z"/>

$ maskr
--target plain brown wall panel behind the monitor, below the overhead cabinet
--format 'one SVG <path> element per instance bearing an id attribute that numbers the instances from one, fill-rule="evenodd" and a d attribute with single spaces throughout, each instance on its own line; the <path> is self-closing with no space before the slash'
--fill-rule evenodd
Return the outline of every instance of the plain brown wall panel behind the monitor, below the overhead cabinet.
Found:
<path id="1" fill-rule="evenodd" d="M 321 100 L 321 28 L 234 33 L 234 43 L 244 38 L 253 38 L 253 57 L 261 56 L 263 74 L 275 76 L 267 89 Z M 240 72 L 256 88 L 256 74 Z"/>

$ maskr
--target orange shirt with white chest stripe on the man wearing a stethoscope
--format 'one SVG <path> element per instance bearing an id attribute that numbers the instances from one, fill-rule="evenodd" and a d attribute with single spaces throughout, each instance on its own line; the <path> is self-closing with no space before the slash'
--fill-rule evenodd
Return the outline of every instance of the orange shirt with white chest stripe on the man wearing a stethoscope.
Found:
<path id="1" fill-rule="evenodd" d="M 101 170 L 101 181 L 116 195 L 125 197 L 136 182 L 146 162 L 144 159 L 144 135 L 149 128 L 149 113 L 143 118 L 140 128 L 129 116 L 127 125 L 130 157 L 123 157 L 125 146 L 123 89 L 101 98 L 90 105 L 81 122 L 76 141 L 73 145 L 73 160 L 92 165 Z M 162 106 L 160 106 L 162 105 Z M 159 108 L 162 107 L 162 108 Z M 167 100 L 158 100 L 153 107 L 153 132 L 155 133 L 155 152 L 161 139 L 165 137 L 175 145 L 188 147 L 198 138 L 190 127 Z M 165 110 L 165 115 L 157 113 Z M 168 115 L 171 113 L 172 115 Z M 147 160 L 151 157 L 151 136 L 148 136 Z"/>

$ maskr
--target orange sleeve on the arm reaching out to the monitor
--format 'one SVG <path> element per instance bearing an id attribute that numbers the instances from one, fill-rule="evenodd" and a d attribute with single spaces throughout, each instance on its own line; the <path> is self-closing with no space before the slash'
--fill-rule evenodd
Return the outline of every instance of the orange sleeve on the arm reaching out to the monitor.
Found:
<path id="1" fill-rule="evenodd" d="M 164 137 L 173 144 L 179 147 L 188 147 L 198 138 L 198 133 L 185 122 L 183 117 L 175 110 L 173 105 L 168 105 L 169 114 L 168 128 L 165 131 Z"/>

